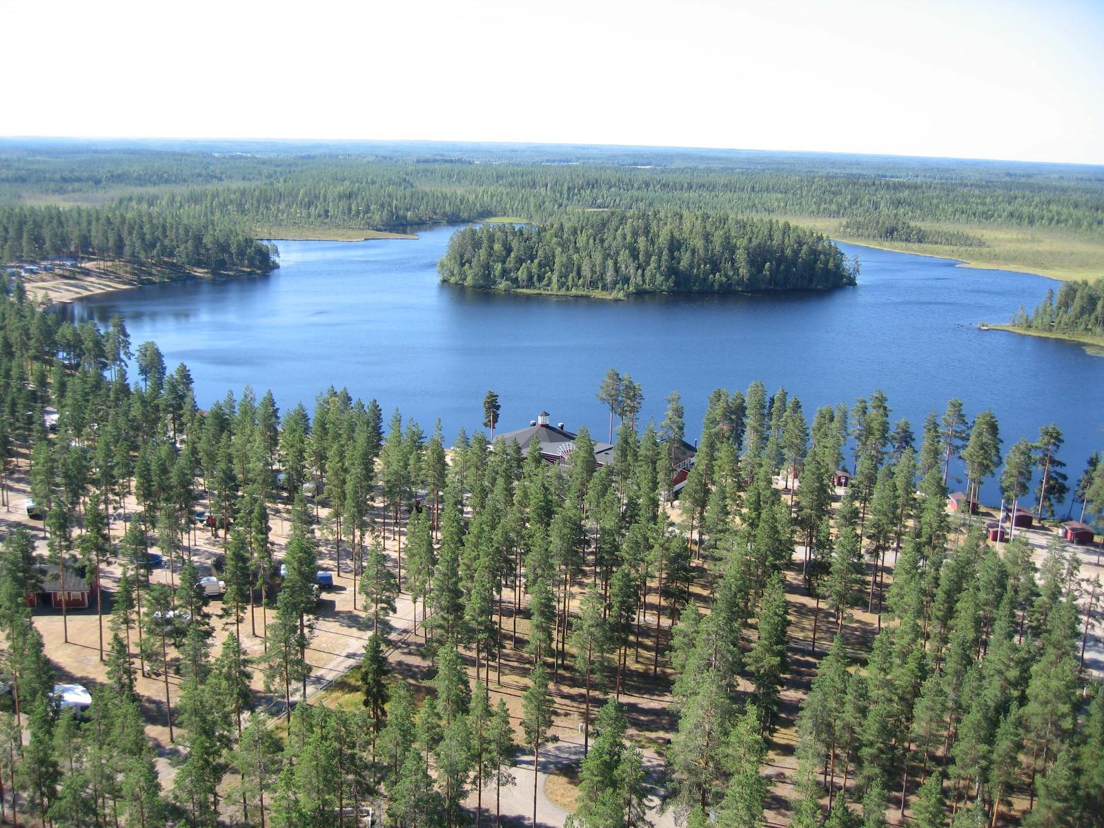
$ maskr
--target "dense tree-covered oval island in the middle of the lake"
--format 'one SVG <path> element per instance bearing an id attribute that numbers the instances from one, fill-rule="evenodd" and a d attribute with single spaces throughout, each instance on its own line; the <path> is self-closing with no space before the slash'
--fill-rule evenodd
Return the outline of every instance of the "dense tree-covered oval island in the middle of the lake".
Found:
<path id="1" fill-rule="evenodd" d="M 571 213 L 457 232 L 442 279 L 499 290 L 735 293 L 853 285 L 830 241 L 773 220 L 704 212 Z"/>

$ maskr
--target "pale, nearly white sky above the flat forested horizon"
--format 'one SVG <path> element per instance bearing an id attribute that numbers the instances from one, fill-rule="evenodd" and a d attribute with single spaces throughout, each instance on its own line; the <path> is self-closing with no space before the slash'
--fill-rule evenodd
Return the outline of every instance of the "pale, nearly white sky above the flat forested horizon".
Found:
<path id="1" fill-rule="evenodd" d="M 0 0 L 0 136 L 1104 163 L 1104 0 Z"/>

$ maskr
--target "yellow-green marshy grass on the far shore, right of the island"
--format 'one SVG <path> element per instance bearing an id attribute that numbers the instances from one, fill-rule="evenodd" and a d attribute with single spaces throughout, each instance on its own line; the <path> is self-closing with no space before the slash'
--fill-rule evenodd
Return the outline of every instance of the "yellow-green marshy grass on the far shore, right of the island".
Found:
<path id="1" fill-rule="evenodd" d="M 849 236 L 839 232 L 839 219 L 807 215 L 776 215 L 774 217 L 793 224 L 802 224 L 841 242 L 899 253 L 919 253 L 940 258 L 955 258 L 960 259 L 969 267 L 1033 273 L 1062 282 L 1104 278 L 1104 238 L 1053 227 L 999 227 L 986 224 L 914 222 L 914 224 L 932 230 L 969 233 L 979 237 L 986 245 L 985 247 L 958 247 L 943 244 L 882 242 Z"/>

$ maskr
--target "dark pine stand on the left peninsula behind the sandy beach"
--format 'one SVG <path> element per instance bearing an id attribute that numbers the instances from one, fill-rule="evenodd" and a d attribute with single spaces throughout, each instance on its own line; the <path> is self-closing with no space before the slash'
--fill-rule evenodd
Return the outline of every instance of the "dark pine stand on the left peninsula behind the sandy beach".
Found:
<path id="1" fill-rule="evenodd" d="M 275 251 L 241 222 L 183 210 L 123 206 L 0 208 L 0 255 L 9 263 L 51 256 L 267 273 Z"/>

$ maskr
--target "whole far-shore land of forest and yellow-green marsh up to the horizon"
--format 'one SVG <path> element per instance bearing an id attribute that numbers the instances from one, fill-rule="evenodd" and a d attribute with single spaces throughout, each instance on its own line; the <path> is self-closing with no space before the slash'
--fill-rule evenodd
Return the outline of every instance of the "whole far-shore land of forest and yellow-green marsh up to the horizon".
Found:
<path id="1" fill-rule="evenodd" d="M 131 237 L 134 246 L 159 242 L 204 267 L 255 267 L 241 264 L 261 259 L 242 231 L 315 237 L 491 216 L 545 224 L 576 210 L 707 211 L 1092 278 L 1102 194 L 1098 168 L 1069 164 L 445 142 L 0 145 L 0 205 L 82 205 L 113 224 L 124 221 L 107 216 L 113 208 L 144 224 L 152 213 L 157 238 Z M 54 250 L 8 235 L 9 259 Z M 203 240 L 199 251 L 191 238 Z M 126 246 L 88 244 L 113 255 Z"/>

